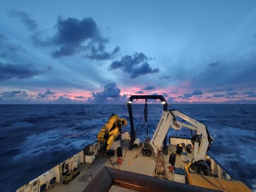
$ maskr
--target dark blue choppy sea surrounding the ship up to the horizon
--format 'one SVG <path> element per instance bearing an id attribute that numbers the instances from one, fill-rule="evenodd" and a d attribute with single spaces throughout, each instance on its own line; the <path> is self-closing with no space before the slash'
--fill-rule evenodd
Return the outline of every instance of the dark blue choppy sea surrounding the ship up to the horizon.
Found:
<path id="1" fill-rule="evenodd" d="M 232 177 L 256 188 L 256 105 L 186 104 L 169 108 L 204 123 L 216 136 L 210 155 Z M 135 127 L 143 110 L 144 105 L 133 105 Z M 161 104 L 148 106 L 153 131 L 162 110 Z M 0 105 L 0 191 L 16 190 L 96 141 L 96 134 L 112 113 L 129 120 L 125 105 Z M 130 130 L 130 122 L 124 130 Z M 170 129 L 168 134 L 191 135 L 186 128 Z M 140 137 L 145 136 L 143 129 Z"/>

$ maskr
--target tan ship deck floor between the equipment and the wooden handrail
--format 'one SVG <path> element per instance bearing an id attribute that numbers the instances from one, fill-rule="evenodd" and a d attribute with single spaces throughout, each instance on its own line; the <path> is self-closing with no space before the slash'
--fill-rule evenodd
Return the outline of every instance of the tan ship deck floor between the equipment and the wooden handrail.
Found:
<path id="1" fill-rule="evenodd" d="M 122 147 L 122 164 L 116 163 L 117 156 L 116 154 L 109 159 L 112 161 L 114 168 L 118 168 L 120 170 L 131 171 L 135 173 L 145 174 L 149 176 L 154 176 L 154 170 L 156 166 L 156 161 L 153 157 L 147 157 L 142 155 L 142 151 L 140 150 L 142 144 L 138 148 L 134 148 L 133 150 L 129 150 L 129 141 L 122 140 L 121 141 Z M 140 150 L 140 151 L 139 151 Z M 193 149 L 192 153 L 188 153 L 187 159 L 189 161 L 192 160 Z M 167 172 L 168 180 L 174 180 L 173 173 L 169 172 L 169 156 L 172 152 L 176 151 L 175 145 L 168 146 L 168 155 L 164 155 L 165 160 L 165 167 Z M 137 158 L 134 158 L 138 154 Z M 90 180 L 97 174 L 103 166 L 113 167 L 110 163 L 110 160 L 106 155 L 101 155 L 99 158 L 96 158 L 93 163 L 84 163 L 80 164 L 78 167 L 78 171 L 80 174 L 75 177 L 69 184 L 63 184 L 62 182 L 54 183 L 49 186 L 49 192 L 57 192 L 57 191 L 83 191 L 83 189 L 87 186 Z M 181 167 L 182 169 L 186 165 L 186 162 L 181 160 L 181 156 L 176 156 L 175 167 Z M 133 191 L 130 189 L 125 189 L 117 186 L 112 186 L 110 191 Z"/>

